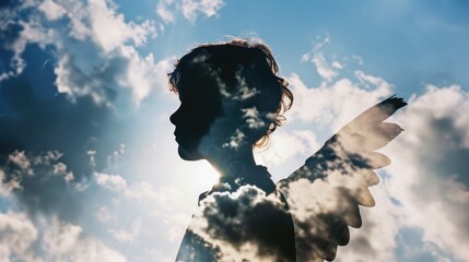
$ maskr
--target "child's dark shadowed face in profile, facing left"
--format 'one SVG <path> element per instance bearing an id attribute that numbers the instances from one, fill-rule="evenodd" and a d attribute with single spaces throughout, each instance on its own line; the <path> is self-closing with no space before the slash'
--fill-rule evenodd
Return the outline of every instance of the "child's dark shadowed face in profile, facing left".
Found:
<path id="1" fill-rule="evenodd" d="M 169 119 L 183 159 L 208 159 L 233 147 L 233 140 L 235 147 L 251 146 L 241 103 L 221 95 L 219 84 L 213 82 L 203 74 L 178 81 L 180 106 Z"/>

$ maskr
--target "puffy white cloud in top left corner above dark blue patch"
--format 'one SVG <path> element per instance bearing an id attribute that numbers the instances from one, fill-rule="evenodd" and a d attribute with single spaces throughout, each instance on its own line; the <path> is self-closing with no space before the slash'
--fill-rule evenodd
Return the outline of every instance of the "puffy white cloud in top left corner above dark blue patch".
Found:
<path id="1" fill-rule="evenodd" d="M 128 22 L 113 1 L 105 0 L 48 0 L 37 10 L 34 7 L 24 3 L 17 11 L 27 11 L 27 16 L 9 20 L 23 29 L 7 47 L 14 52 L 15 71 L 1 79 L 22 73 L 26 46 L 38 44 L 54 49 L 57 90 L 72 102 L 91 96 L 101 105 L 136 107 L 161 82 L 164 63 L 137 51 L 149 37 L 156 37 L 154 21 Z"/>

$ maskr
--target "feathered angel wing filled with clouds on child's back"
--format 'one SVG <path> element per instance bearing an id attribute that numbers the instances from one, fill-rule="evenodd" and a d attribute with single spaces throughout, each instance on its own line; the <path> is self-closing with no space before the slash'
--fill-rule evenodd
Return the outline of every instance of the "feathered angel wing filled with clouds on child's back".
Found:
<path id="1" fill-rule="evenodd" d="M 384 120 L 406 105 L 392 96 L 365 110 L 279 181 L 295 224 L 297 261 L 332 261 L 349 242 L 348 226 L 362 225 L 359 205 L 374 206 L 367 188 L 379 182 L 373 169 L 390 164 L 375 151 L 402 131 Z"/>

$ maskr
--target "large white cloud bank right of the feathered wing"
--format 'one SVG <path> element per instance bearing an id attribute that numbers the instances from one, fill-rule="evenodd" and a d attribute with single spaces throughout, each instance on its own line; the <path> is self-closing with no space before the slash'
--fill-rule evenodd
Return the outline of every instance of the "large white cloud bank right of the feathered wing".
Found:
<path id="1" fill-rule="evenodd" d="M 374 88 L 383 86 L 378 79 L 355 75 Z M 361 210 L 363 227 L 351 229 L 351 242 L 339 249 L 337 261 L 465 261 L 468 97 L 458 85 L 427 85 L 394 117 L 406 131 L 384 148 L 392 164 L 382 184 L 371 189 L 377 205 Z M 359 96 L 351 99 L 356 103 L 349 109 L 362 107 Z M 335 114 L 332 127 L 348 115 Z"/>

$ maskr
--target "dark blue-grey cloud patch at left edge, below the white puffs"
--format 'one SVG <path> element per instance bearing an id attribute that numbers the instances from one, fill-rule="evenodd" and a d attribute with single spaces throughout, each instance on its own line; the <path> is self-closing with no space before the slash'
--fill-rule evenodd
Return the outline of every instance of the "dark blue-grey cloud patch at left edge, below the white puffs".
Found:
<path id="1" fill-rule="evenodd" d="M 99 155 L 112 153 L 99 146 L 112 111 L 95 105 L 91 98 L 74 104 L 62 95 L 39 99 L 24 78 L 3 82 L 1 95 L 10 109 L 0 118 L 3 157 L 15 150 L 36 153 L 56 150 L 63 153 L 63 160 L 80 179 L 91 171 L 89 151 L 97 151 Z M 105 163 L 97 163 L 103 168 Z"/>

